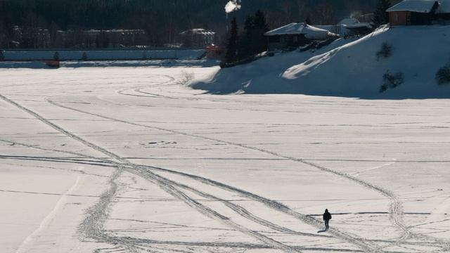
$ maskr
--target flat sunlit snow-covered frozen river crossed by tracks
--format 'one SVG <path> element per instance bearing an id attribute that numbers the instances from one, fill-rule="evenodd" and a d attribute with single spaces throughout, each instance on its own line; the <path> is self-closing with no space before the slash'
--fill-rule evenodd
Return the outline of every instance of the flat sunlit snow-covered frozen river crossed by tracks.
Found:
<path id="1" fill-rule="evenodd" d="M 0 70 L 0 251 L 450 252 L 450 100 L 181 84 L 215 71 Z"/>

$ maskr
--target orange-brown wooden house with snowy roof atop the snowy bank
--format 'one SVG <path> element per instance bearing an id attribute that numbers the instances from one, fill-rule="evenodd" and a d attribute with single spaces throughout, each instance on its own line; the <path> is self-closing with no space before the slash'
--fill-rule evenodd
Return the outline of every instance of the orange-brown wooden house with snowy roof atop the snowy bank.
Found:
<path id="1" fill-rule="evenodd" d="M 441 0 L 443 1 L 443 0 Z M 435 0 L 404 0 L 387 9 L 390 25 L 431 25 L 441 4 Z"/>

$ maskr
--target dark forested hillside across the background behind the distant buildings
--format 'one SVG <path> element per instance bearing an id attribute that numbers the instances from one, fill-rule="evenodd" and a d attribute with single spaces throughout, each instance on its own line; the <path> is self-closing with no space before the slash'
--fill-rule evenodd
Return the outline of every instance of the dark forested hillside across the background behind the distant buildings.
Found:
<path id="1" fill-rule="evenodd" d="M 226 20 L 228 0 L 0 0 L 0 48 L 55 46 L 59 30 L 74 31 L 75 41 L 84 41 L 83 30 L 144 30 L 148 46 L 176 43 L 179 33 L 205 28 L 226 34 L 231 18 L 245 17 L 261 9 L 269 28 L 309 20 L 333 24 L 354 11 L 373 12 L 378 0 L 245 0 L 243 8 Z M 48 33 L 49 42 L 12 41 L 14 27 L 25 27 L 30 38 Z M 41 35 L 46 37 L 47 35 Z M 99 38 L 101 39 L 101 38 Z M 218 38 L 220 40 L 220 38 Z M 20 41 L 23 42 L 23 41 Z M 101 43 L 107 44 L 107 43 Z M 67 46 L 67 45 L 63 45 Z"/>

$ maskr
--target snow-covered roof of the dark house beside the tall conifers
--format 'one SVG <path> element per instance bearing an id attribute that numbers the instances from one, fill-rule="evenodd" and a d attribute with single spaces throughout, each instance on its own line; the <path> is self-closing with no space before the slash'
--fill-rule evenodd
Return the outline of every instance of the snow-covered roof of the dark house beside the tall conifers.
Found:
<path id="1" fill-rule="evenodd" d="M 283 27 L 279 27 L 275 30 L 271 30 L 266 32 L 266 36 L 274 36 L 274 35 L 287 35 L 287 34 L 304 34 L 304 37 L 307 39 L 324 39 L 329 36 L 333 36 L 331 32 L 327 30 L 323 30 L 311 25 L 307 25 L 304 22 L 298 23 L 290 23 L 289 25 L 285 25 Z"/>

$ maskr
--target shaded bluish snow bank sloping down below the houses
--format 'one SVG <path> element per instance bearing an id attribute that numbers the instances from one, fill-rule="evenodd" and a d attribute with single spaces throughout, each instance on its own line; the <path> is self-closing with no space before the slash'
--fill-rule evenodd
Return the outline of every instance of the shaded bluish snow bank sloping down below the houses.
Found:
<path id="1" fill-rule="evenodd" d="M 392 56 L 378 58 L 383 44 Z M 383 28 L 356 41 L 339 39 L 316 52 L 283 53 L 219 70 L 191 84 L 210 93 L 302 93 L 356 98 L 448 98 L 450 84 L 435 74 L 450 60 L 450 27 Z M 404 82 L 380 93 L 383 75 L 399 73 Z"/>

